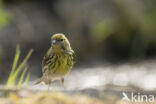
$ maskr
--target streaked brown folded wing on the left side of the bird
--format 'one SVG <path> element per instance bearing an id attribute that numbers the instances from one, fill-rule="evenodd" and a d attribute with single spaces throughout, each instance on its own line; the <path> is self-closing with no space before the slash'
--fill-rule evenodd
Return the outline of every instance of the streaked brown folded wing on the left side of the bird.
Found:
<path id="1" fill-rule="evenodd" d="M 43 57 L 42 60 L 42 72 L 44 73 L 46 69 L 48 68 L 48 64 L 51 63 L 51 59 L 53 57 L 53 50 L 52 47 L 49 48 L 45 56 Z"/>

